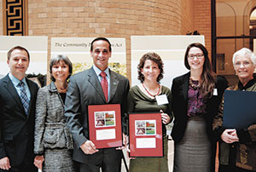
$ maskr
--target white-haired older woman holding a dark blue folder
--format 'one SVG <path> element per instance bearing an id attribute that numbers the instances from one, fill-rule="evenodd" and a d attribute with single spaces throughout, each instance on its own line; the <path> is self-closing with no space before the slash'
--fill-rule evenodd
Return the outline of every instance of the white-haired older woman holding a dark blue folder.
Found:
<path id="1" fill-rule="evenodd" d="M 256 56 L 253 52 L 247 48 L 238 50 L 233 55 L 233 65 L 239 82 L 228 89 L 256 91 L 256 78 L 253 77 Z M 247 129 L 224 129 L 222 127 L 223 105 L 224 103 L 220 106 L 220 111 L 212 126 L 219 140 L 218 171 L 256 171 L 256 123 Z"/>

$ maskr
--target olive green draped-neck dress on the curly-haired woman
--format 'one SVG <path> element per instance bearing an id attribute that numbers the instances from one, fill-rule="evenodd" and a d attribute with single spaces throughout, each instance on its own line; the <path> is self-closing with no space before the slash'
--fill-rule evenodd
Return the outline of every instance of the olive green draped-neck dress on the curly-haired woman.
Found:
<path id="1" fill-rule="evenodd" d="M 138 86 L 130 89 L 127 100 L 127 112 L 163 112 L 167 113 L 172 121 L 172 94 L 165 86 L 161 87 L 160 95 L 166 95 L 169 101 L 166 105 L 157 105 L 156 99 L 151 99 L 143 93 Z M 166 137 L 166 126 L 163 123 L 164 157 L 162 158 L 136 158 L 130 161 L 130 172 L 167 172 L 168 170 L 168 141 Z"/>

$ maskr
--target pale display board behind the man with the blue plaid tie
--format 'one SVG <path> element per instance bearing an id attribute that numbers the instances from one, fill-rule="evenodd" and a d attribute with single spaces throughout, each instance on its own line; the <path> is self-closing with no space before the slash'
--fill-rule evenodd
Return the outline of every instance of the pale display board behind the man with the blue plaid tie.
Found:
<path id="1" fill-rule="evenodd" d="M 17 45 L 27 49 L 30 54 L 30 64 L 26 74 L 47 73 L 48 37 L 0 36 L 0 44 L 0 77 L 9 72 L 7 53 Z"/>

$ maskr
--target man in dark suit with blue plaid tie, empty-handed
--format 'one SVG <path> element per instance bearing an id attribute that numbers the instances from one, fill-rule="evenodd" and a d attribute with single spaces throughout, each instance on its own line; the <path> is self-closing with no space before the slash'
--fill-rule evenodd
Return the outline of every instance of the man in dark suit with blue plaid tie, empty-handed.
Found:
<path id="1" fill-rule="evenodd" d="M 37 171 L 33 138 L 38 85 L 25 77 L 29 60 L 25 48 L 10 49 L 10 72 L 0 80 L 0 171 Z"/>

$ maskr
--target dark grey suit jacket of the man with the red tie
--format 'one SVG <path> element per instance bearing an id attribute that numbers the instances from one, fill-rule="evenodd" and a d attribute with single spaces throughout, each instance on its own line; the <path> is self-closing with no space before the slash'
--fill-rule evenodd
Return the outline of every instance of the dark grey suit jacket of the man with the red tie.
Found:
<path id="1" fill-rule="evenodd" d="M 110 71 L 109 73 L 109 102 L 105 100 L 101 83 L 92 67 L 73 75 L 68 83 L 65 116 L 67 117 L 67 126 L 76 143 L 73 150 L 73 159 L 80 163 L 88 162 L 91 159 L 91 155 L 85 155 L 79 148 L 89 138 L 88 105 L 121 104 L 124 122 L 127 94 L 130 88 L 129 80 L 116 72 Z M 123 123 L 123 129 L 125 129 L 125 123 Z"/>

